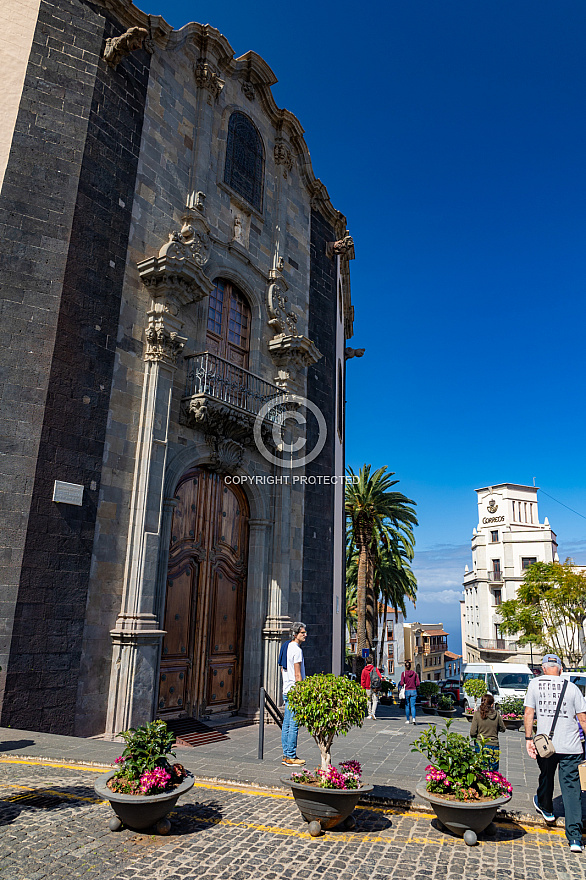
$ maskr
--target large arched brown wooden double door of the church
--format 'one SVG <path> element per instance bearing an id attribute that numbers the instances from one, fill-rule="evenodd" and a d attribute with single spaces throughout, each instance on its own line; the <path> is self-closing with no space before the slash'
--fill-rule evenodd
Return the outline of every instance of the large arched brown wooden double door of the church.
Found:
<path id="1" fill-rule="evenodd" d="M 175 498 L 158 710 L 198 718 L 240 706 L 249 509 L 239 486 L 203 468 Z"/>

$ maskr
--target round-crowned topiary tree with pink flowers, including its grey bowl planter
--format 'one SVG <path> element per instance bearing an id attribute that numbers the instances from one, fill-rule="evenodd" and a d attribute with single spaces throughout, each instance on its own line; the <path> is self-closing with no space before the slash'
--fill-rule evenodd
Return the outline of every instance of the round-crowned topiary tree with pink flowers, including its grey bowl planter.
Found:
<path id="1" fill-rule="evenodd" d="M 343 676 L 311 675 L 298 681 L 287 695 L 297 723 L 314 738 L 321 755 L 315 772 L 303 770 L 281 777 L 291 788 L 295 802 L 313 837 L 340 822 L 346 828 L 355 823 L 352 810 L 361 795 L 372 791 L 362 782 L 358 761 L 332 765 L 331 747 L 336 736 L 346 736 L 353 727 L 362 727 L 368 711 L 366 691 Z"/>

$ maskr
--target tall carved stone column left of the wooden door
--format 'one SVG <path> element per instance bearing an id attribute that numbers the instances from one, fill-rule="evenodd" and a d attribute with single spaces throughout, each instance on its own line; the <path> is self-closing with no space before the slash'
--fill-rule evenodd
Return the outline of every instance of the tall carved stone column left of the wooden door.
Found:
<path id="1" fill-rule="evenodd" d="M 114 651 L 106 735 L 112 737 L 151 721 L 155 711 L 164 635 L 158 618 L 157 562 L 173 376 L 185 343 L 179 335 L 183 326 L 180 312 L 211 288 L 201 271 L 202 242 L 198 239 L 194 244 L 194 238 L 193 226 L 186 224 L 181 234 L 170 236 L 158 257 L 138 264 L 141 279 L 151 293 L 151 305 L 145 330 L 145 372 L 124 592 L 111 633 Z"/>

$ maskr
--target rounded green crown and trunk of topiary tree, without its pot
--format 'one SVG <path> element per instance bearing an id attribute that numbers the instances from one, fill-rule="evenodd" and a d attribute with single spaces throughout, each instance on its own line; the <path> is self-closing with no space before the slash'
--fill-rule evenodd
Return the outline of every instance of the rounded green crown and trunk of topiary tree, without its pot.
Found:
<path id="1" fill-rule="evenodd" d="M 287 694 L 287 702 L 297 723 L 316 741 L 327 770 L 332 762 L 330 749 L 335 736 L 346 736 L 353 727 L 362 727 L 368 711 L 364 688 L 344 676 L 310 675 L 298 681 Z"/>

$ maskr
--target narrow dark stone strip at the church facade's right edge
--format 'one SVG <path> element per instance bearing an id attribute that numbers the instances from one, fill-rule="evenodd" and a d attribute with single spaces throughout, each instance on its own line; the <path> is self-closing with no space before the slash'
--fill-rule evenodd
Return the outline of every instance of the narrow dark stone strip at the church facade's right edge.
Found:
<path id="1" fill-rule="evenodd" d="M 307 396 L 319 406 L 328 436 L 322 452 L 306 465 L 308 478 L 334 473 L 336 434 L 336 263 L 326 256 L 333 228 L 317 211 L 311 212 L 309 279 L 309 338 L 323 357 L 310 367 Z M 318 426 L 308 417 L 307 449 L 317 442 Z M 332 670 L 332 602 L 334 566 L 334 487 L 315 483 L 305 487 L 303 529 L 303 597 L 301 619 L 308 628 L 303 646 L 307 675 Z"/>

